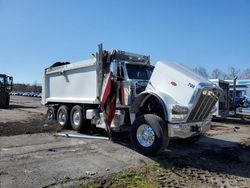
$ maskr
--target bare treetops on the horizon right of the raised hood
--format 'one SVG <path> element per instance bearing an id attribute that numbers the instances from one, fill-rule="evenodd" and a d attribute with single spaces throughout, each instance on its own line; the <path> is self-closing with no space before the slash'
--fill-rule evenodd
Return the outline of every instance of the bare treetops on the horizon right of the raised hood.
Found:
<path id="1" fill-rule="evenodd" d="M 238 79 L 250 79 L 250 68 L 240 70 L 236 67 L 229 67 L 227 72 L 223 72 L 222 70 L 216 68 L 212 71 L 211 74 L 209 74 L 204 67 L 196 67 L 193 70 L 194 72 L 207 79 L 218 78 L 221 80 L 232 80 L 236 76 L 238 77 Z"/>

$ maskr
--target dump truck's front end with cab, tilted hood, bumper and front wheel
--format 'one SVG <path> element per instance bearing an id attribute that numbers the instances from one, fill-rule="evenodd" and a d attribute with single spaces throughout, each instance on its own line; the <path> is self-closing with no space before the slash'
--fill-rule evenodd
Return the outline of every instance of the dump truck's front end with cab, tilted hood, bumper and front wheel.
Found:
<path id="1" fill-rule="evenodd" d="M 129 53 L 124 54 L 129 56 Z M 166 134 L 167 137 L 162 136 L 165 141 L 161 141 L 168 143 L 169 138 L 174 137 L 197 141 L 209 130 L 222 90 L 189 68 L 174 62 L 159 61 L 154 67 L 147 60 L 128 60 L 116 61 L 111 70 L 119 83 L 119 99 L 122 98 L 122 106 L 118 104 L 121 108 L 117 111 L 128 108 L 132 143 L 141 153 L 157 150 L 153 142 L 156 132 Z M 124 118 L 118 119 L 120 128 Z M 149 148 L 153 149 L 149 151 Z"/>

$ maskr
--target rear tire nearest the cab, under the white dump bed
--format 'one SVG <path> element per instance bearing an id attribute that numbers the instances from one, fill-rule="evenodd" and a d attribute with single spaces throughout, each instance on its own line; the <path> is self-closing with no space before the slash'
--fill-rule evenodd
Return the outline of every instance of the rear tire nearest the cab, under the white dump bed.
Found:
<path id="1" fill-rule="evenodd" d="M 83 129 L 83 115 L 82 107 L 79 105 L 74 106 L 70 112 L 70 123 L 75 131 L 80 131 Z"/>

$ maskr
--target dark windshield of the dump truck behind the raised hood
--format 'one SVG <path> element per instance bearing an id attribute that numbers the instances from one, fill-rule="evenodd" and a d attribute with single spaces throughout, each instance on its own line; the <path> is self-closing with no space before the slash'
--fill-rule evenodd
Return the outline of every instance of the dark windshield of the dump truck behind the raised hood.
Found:
<path id="1" fill-rule="evenodd" d="M 129 79 L 149 80 L 154 70 L 153 66 L 126 64 Z"/>

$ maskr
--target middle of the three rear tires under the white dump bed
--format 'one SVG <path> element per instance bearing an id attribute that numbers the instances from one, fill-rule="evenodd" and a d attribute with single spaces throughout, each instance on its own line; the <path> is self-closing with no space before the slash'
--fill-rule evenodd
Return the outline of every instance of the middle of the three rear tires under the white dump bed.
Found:
<path id="1" fill-rule="evenodd" d="M 69 109 L 67 106 L 62 105 L 58 108 L 57 122 L 63 129 L 69 128 Z"/>

